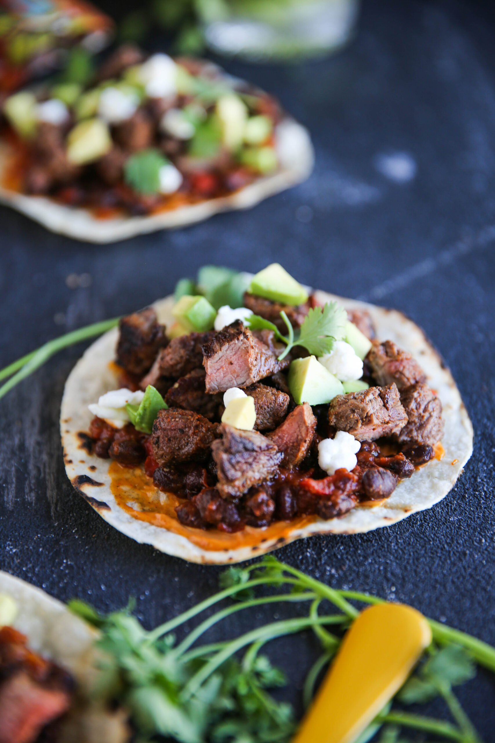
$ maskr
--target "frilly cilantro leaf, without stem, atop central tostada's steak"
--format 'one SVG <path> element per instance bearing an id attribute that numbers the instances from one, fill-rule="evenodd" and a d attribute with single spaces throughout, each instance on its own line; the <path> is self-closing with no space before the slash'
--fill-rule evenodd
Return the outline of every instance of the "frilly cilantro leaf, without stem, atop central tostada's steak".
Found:
<path id="1" fill-rule="evenodd" d="M 294 345 L 302 345 L 313 356 L 329 354 L 333 341 L 344 337 L 346 322 L 347 312 L 337 302 L 311 308 Z"/>

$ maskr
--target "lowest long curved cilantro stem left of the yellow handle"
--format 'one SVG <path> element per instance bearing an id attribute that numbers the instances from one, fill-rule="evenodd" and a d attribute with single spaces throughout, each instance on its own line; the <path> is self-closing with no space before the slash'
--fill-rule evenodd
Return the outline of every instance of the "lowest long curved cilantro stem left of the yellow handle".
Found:
<path id="1" fill-rule="evenodd" d="M 310 619 L 309 617 L 301 617 L 297 619 L 286 619 L 281 622 L 274 622 L 272 624 L 266 624 L 263 627 L 257 627 L 252 629 L 251 632 L 246 632 L 245 635 L 236 637 L 217 655 L 214 655 L 208 663 L 189 679 L 188 683 L 183 689 L 181 698 L 183 701 L 187 701 L 197 690 L 204 684 L 207 678 L 214 673 L 222 663 L 225 663 L 232 655 L 253 642 L 258 640 L 274 640 L 275 637 L 283 637 L 283 635 L 294 635 L 295 632 L 301 632 L 303 629 L 310 629 L 315 624 L 332 624 L 333 617 L 319 617 L 318 620 Z"/>

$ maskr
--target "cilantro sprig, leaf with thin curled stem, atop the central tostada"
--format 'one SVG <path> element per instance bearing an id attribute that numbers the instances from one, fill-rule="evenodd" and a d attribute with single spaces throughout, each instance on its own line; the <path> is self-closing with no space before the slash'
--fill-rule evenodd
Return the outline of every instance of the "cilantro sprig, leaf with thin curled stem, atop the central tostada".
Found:
<path id="1" fill-rule="evenodd" d="M 296 345 L 301 345 L 312 356 L 330 354 L 335 340 L 342 340 L 345 335 L 347 312 L 337 302 L 327 302 L 324 307 L 314 307 L 308 311 L 300 330 L 295 331 L 292 323 L 284 311 L 281 318 L 286 325 L 287 335 L 284 336 L 273 322 L 252 315 L 246 320 L 251 330 L 272 330 L 275 337 L 286 344 L 286 348 L 278 357 L 282 360 Z"/>

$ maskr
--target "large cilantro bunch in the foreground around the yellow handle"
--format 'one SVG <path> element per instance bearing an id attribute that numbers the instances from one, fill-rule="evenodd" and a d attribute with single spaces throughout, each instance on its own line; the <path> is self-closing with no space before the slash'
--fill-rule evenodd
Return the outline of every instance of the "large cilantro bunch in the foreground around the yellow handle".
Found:
<path id="1" fill-rule="evenodd" d="M 292 707 L 269 691 L 282 687 L 285 677 L 267 655 L 260 654 L 261 647 L 275 637 L 312 629 L 321 643 L 321 656 L 306 678 L 304 698 L 309 704 L 321 672 L 359 614 L 351 602 L 382 602 L 368 594 L 330 588 L 273 557 L 229 568 L 220 585 L 217 594 L 149 632 L 129 609 L 104 617 L 81 601 L 70 604 L 101 633 L 98 644 L 104 660 L 96 681 L 99 698 L 130 711 L 140 741 L 168 736 L 180 743 L 289 743 L 296 729 Z M 225 604 L 229 599 L 236 601 Z M 332 605 L 332 613 L 320 613 L 324 601 Z M 227 617 L 271 603 L 306 603 L 309 610 L 303 616 L 253 626 L 244 635 L 226 639 L 223 634 L 219 642 L 201 642 L 206 632 Z M 206 618 L 191 629 L 191 620 L 203 612 L 208 612 Z M 430 733 L 435 740 L 480 743 L 453 687 L 473 678 L 476 663 L 495 672 L 495 648 L 428 621 L 432 645 L 415 675 L 373 721 L 362 740 L 381 728 L 380 743 L 405 743 L 403 730 Z M 186 623 L 181 639 L 177 635 Z M 453 721 L 396 707 L 396 702 L 421 704 L 434 696 L 445 701 Z"/>

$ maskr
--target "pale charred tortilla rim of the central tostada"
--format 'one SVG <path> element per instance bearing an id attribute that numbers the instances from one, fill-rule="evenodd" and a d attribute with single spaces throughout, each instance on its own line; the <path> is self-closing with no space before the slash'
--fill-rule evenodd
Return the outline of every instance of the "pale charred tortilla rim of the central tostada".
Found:
<path id="1" fill-rule="evenodd" d="M 68 377 L 62 399 L 61 433 L 62 444 L 67 454 L 65 469 L 71 481 L 77 481 L 79 491 L 109 524 L 137 542 L 153 545 L 154 548 L 190 562 L 226 564 L 241 562 L 265 554 L 281 546 L 314 534 L 355 534 L 390 526 L 413 513 L 426 510 L 438 503 L 452 489 L 473 451 L 473 426 L 462 402 L 459 390 L 450 370 L 439 352 L 430 344 L 421 328 L 404 314 L 396 310 L 345 299 L 325 292 L 316 292 L 321 301 L 338 299 L 346 309 L 366 309 L 373 317 L 377 336 L 381 340 L 393 340 L 401 348 L 410 351 L 427 374 L 427 383 L 436 390 L 442 400 L 445 419 L 445 435 L 442 445 L 445 455 L 442 461 L 433 459 L 420 468 L 410 480 L 399 483 L 396 491 L 383 505 L 358 506 L 341 519 L 321 519 L 295 529 L 283 543 L 271 539 L 253 547 L 235 550 L 207 551 L 197 547 L 185 536 L 172 533 L 146 522 L 138 521 L 119 508 L 111 494 L 108 476 L 108 460 L 90 455 L 80 447 L 78 432 L 88 430 L 91 414 L 88 403 L 97 400 L 108 389 L 114 389 L 116 379 L 109 367 L 114 359 L 117 328 L 96 340 L 91 345 Z M 169 296 L 154 306 L 161 322 L 171 322 L 174 299 Z M 63 422 L 65 421 L 65 422 Z M 71 460 L 71 461 L 70 461 Z M 90 470 L 91 467 L 91 470 Z M 96 468 L 96 469 L 95 469 Z M 91 485 L 81 476 L 89 476 L 97 485 Z M 98 504 L 93 503 L 96 500 Z"/>

